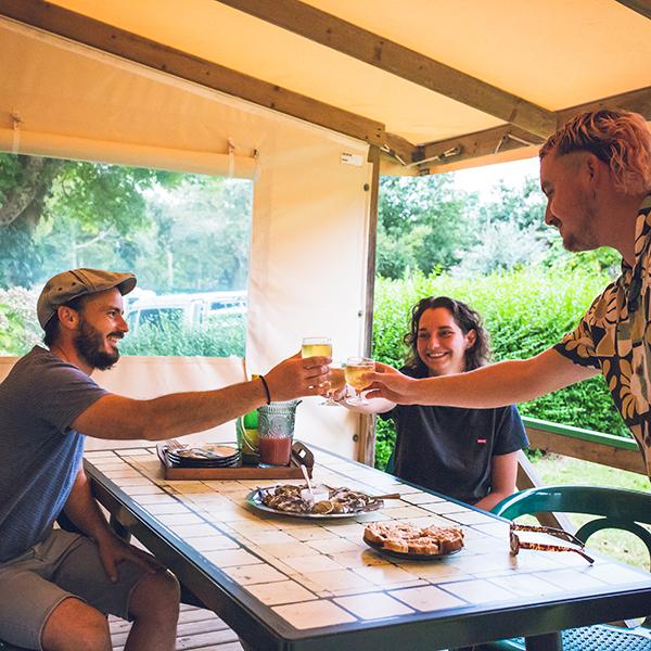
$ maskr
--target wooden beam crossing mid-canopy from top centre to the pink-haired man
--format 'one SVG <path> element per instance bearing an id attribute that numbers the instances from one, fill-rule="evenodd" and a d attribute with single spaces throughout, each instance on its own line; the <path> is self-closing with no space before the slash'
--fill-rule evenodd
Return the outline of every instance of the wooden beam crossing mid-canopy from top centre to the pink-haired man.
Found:
<path id="1" fill-rule="evenodd" d="M 218 0 L 337 52 L 546 137 L 553 112 L 299 0 Z"/>

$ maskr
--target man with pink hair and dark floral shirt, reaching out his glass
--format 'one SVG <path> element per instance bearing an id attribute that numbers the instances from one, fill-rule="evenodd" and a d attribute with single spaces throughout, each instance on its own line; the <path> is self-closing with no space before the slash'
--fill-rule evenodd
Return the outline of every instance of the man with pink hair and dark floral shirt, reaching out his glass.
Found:
<path id="1" fill-rule="evenodd" d="M 651 477 L 651 132 L 641 115 L 595 111 L 572 118 L 540 149 L 545 221 L 569 251 L 612 246 L 622 273 L 574 332 L 529 359 L 414 380 L 385 365 L 373 391 L 406 405 L 494 408 L 524 403 L 603 373 Z"/>

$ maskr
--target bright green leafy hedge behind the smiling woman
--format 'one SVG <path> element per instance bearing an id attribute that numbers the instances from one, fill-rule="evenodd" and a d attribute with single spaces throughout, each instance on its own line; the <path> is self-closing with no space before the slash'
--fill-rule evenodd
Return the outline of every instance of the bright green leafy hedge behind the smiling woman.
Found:
<path id="1" fill-rule="evenodd" d="M 599 272 L 527 268 L 487 277 L 456 279 L 447 275 L 406 280 L 378 279 L 373 356 L 400 366 L 411 306 L 423 296 L 447 295 L 470 304 L 492 336 L 493 360 L 541 353 L 574 329 L 610 279 Z M 608 434 L 629 436 L 601 376 L 519 405 L 523 416 Z M 376 465 L 384 468 L 393 449 L 393 423 L 378 419 Z"/>

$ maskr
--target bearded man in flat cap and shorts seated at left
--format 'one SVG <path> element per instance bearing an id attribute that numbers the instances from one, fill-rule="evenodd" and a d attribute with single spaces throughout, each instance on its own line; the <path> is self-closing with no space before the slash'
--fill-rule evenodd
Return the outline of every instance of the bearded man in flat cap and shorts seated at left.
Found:
<path id="1" fill-rule="evenodd" d="M 0 639 L 27 649 L 110 651 L 105 615 L 132 620 L 125 651 L 175 646 L 176 578 L 110 529 L 84 469 L 85 436 L 163 439 L 260 405 L 322 393 L 329 358 L 285 359 L 252 382 L 135 400 L 90 378 L 119 358 L 132 273 L 75 269 L 37 305 L 35 346 L 0 384 Z M 65 515 L 86 535 L 53 529 Z"/>

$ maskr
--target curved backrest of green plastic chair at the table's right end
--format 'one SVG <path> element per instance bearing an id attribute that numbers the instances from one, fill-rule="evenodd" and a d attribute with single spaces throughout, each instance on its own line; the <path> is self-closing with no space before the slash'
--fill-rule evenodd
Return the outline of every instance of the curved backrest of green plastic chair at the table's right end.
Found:
<path id="1" fill-rule="evenodd" d="M 547 486 L 529 488 L 507 497 L 493 508 L 493 513 L 514 520 L 519 515 L 549 512 L 600 515 L 584 524 L 576 537 L 584 542 L 596 532 L 617 528 L 638 536 L 651 559 L 651 493 L 602 486 Z"/>

